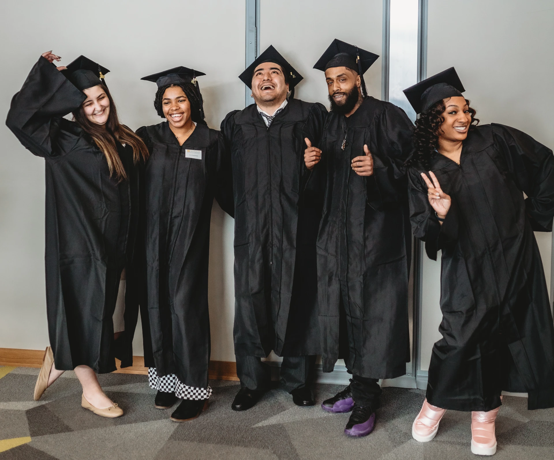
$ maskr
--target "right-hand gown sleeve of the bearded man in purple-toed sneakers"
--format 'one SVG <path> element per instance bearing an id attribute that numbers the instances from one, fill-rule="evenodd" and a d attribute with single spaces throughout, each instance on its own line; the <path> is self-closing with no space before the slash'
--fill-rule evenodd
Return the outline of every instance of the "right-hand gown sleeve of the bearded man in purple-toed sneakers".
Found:
<path id="1" fill-rule="evenodd" d="M 367 178 L 367 203 L 374 209 L 396 207 L 406 200 L 406 167 L 413 154 L 413 124 L 404 111 L 387 104 L 377 116 L 373 141 L 373 175 Z"/>

